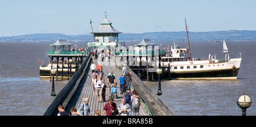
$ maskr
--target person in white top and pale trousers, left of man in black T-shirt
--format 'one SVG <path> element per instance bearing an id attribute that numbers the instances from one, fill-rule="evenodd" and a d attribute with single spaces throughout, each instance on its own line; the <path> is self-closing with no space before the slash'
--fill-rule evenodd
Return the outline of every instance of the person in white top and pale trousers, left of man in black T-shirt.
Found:
<path id="1" fill-rule="evenodd" d="M 101 75 L 98 75 L 98 78 L 96 81 L 96 86 L 95 86 L 95 91 L 96 91 L 96 96 L 97 96 L 98 102 L 102 102 L 103 83 L 104 83 L 104 79 L 101 79 Z"/>

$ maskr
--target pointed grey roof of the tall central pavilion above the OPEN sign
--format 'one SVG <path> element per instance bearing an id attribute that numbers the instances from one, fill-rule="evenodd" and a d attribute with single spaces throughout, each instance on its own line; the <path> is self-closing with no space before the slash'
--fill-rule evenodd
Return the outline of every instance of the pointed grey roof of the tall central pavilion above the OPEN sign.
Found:
<path id="1" fill-rule="evenodd" d="M 90 33 L 122 33 L 117 31 L 117 29 L 114 29 L 111 25 L 112 23 L 109 22 L 107 18 L 105 18 L 101 22 L 100 28 L 98 28 L 96 31 L 90 32 Z"/>

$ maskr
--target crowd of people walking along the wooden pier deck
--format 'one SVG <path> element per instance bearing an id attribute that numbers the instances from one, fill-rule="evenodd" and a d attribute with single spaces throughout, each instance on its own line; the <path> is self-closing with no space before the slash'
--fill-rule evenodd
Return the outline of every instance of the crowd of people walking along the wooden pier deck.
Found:
<path id="1" fill-rule="evenodd" d="M 102 116 L 138 116 L 139 106 L 141 105 L 141 97 L 138 95 L 137 91 L 132 91 L 130 89 L 132 82 L 131 73 L 127 72 L 126 66 L 123 67 L 122 73 L 119 79 L 116 78 L 113 70 L 110 70 L 107 75 L 107 81 L 105 81 L 105 73 L 102 70 L 102 65 L 98 62 L 97 66 L 92 62 L 90 65 L 90 70 L 92 71 L 92 87 L 93 95 L 96 96 L 98 103 L 106 102 L 106 88 L 109 90 L 109 100 L 104 105 Z M 119 97 L 118 97 L 118 87 L 119 86 Z M 122 98 L 120 104 L 116 104 L 117 99 Z M 100 109 L 96 110 L 95 114 L 90 110 L 89 99 L 83 98 L 79 109 L 72 107 L 70 109 L 71 116 L 100 116 Z M 62 105 L 59 105 L 58 115 L 69 115 L 68 112 L 64 111 Z"/>

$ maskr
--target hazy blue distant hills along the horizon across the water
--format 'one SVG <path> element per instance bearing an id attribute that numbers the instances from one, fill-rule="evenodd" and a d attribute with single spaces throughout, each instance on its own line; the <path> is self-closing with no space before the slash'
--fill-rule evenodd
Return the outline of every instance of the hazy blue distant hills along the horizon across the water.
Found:
<path id="1" fill-rule="evenodd" d="M 119 41 L 140 42 L 142 39 L 152 41 L 186 41 L 187 33 L 180 32 L 147 32 L 147 33 L 121 33 Z M 93 36 L 84 35 L 64 35 L 61 33 L 35 33 L 31 35 L 3 36 L 0 42 L 55 42 L 57 39 L 67 39 L 69 42 L 91 42 Z M 256 31 L 211 31 L 211 32 L 189 32 L 189 41 L 219 41 L 219 40 L 248 40 L 256 41 Z"/>

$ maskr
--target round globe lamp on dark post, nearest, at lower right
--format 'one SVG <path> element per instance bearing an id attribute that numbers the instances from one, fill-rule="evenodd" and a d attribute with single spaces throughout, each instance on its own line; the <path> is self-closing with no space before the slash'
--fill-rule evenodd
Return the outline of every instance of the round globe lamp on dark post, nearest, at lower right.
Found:
<path id="1" fill-rule="evenodd" d="M 237 105 L 242 109 L 242 116 L 246 116 L 246 109 L 251 105 L 251 98 L 248 95 L 242 95 L 237 99 Z"/>

